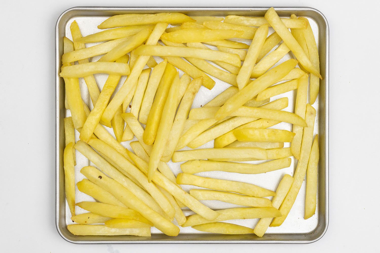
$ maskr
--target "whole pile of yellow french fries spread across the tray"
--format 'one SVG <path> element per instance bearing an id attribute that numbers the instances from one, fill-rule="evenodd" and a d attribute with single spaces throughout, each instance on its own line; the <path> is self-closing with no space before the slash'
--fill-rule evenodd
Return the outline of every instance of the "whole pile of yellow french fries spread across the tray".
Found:
<path id="1" fill-rule="evenodd" d="M 268 27 L 274 30 L 269 36 Z M 313 136 L 316 110 L 312 104 L 322 77 L 307 19 L 294 14 L 280 18 L 274 8 L 264 17 L 225 19 L 182 13 L 123 14 L 109 17 L 98 28 L 107 30 L 82 36 L 74 21 L 72 41 L 63 38 L 60 76 L 65 81 L 65 107 L 71 113 L 64 119 L 65 193 L 71 219 L 77 223 L 67 226 L 71 233 L 150 236 L 154 226 L 177 236 L 175 219 L 179 226 L 199 231 L 261 237 L 269 226 L 284 222 L 305 175 L 304 218 L 315 214 L 319 149 L 318 137 Z M 92 42 L 102 43 L 86 47 Z M 274 66 L 290 51 L 295 58 Z M 89 61 L 100 55 L 98 61 Z M 184 72 L 181 77 L 179 70 Z M 94 77 L 97 73 L 108 74 L 101 90 Z M 231 86 L 203 107 L 192 109 L 200 87 L 211 90 L 215 85 L 209 75 Z M 82 101 L 79 78 L 87 85 L 91 111 Z M 282 110 L 288 107 L 288 97 L 270 101 L 291 90 L 297 90 L 294 113 Z M 293 130 L 270 128 L 281 122 L 292 124 Z M 133 138 L 136 141 L 128 143 L 128 149 L 120 144 Z M 214 148 L 197 149 L 209 141 L 214 141 Z M 284 148 L 286 142 L 290 148 Z M 181 150 L 186 146 L 190 150 Z M 75 150 L 95 165 L 80 168 L 87 179 L 76 185 Z M 298 160 L 293 177 L 285 174 L 275 191 L 254 182 L 195 175 L 266 173 L 290 167 L 291 156 Z M 175 176 L 166 163 L 169 160 L 184 162 L 183 173 Z M 264 162 L 241 163 L 254 160 Z M 188 193 L 180 185 L 206 189 Z M 96 202 L 76 203 L 76 186 Z M 270 196 L 272 200 L 266 198 Z M 200 200 L 243 207 L 214 211 Z M 88 212 L 76 214 L 75 206 Z M 183 207 L 195 214 L 185 217 Z M 256 218 L 260 220 L 255 228 L 223 222 Z"/>

